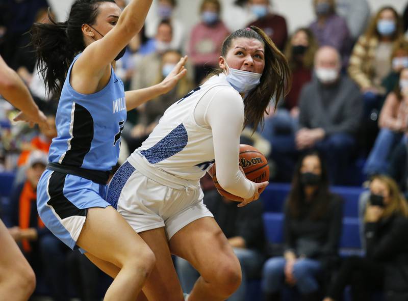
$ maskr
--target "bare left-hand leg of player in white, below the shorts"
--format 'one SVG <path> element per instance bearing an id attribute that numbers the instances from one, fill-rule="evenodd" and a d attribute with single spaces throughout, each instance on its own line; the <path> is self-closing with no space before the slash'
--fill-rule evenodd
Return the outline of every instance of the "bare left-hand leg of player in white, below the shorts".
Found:
<path id="1" fill-rule="evenodd" d="M 144 284 L 143 292 L 150 300 L 183 300 L 183 291 L 174 269 L 164 228 L 140 232 L 156 256 L 156 264 Z"/>

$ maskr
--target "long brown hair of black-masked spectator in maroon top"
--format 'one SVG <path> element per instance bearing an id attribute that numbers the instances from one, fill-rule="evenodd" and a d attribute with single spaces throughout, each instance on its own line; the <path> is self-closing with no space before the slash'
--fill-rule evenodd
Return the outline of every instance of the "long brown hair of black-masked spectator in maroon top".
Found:
<path id="1" fill-rule="evenodd" d="M 292 39 L 299 32 L 304 32 L 308 36 L 309 46 L 308 46 L 308 49 L 306 50 L 306 52 L 303 55 L 303 61 L 302 62 L 303 62 L 303 66 L 305 68 L 312 70 L 314 60 L 315 60 L 315 53 L 316 53 L 317 49 L 319 48 L 319 45 L 317 44 L 315 35 L 308 28 L 303 27 L 303 28 L 297 29 L 294 32 L 294 34 L 289 38 L 289 41 L 286 43 L 286 47 L 285 47 L 285 51 L 284 51 L 286 59 L 289 62 L 289 66 L 290 66 L 291 70 L 294 70 L 297 67 L 297 63 L 293 58 Z"/>

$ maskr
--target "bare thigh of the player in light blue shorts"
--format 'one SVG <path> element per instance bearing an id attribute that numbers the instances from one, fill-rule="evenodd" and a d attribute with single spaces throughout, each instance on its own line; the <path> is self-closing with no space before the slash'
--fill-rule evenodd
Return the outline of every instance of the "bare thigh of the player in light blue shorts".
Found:
<path id="1" fill-rule="evenodd" d="M 88 209 L 77 244 L 91 255 L 120 268 L 129 261 L 147 268 L 155 260 L 143 239 L 111 206 Z"/>

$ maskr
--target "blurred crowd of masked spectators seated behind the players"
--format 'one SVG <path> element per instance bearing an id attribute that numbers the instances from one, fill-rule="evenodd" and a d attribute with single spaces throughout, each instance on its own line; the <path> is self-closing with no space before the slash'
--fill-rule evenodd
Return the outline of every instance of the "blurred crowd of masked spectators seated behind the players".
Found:
<path id="1" fill-rule="evenodd" d="M 262 202 L 238 209 L 211 191 L 211 181 L 202 182 L 208 190 L 205 203 L 242 267 L 242 285 L 230 300 L 244 300 L 247 281 L 260 278 L 266 301 L 278 300 L 288 287 L 302 300 L 340 300 L 347 285 L 353 300 L 369 300 L 371 292 L 381 290 L 386 300 L 406 300 L 408 5 L 400 15 L 392 6 L 370 12 L 367 0 L 308 1 L 314 21 L 289 32 L 273 0 L 235 0 L 228 13 L 221 0 L 201 0 L 199 10 L 192 12 L 199 20 L 188 32 L 174 14 L 180 3 L 157 0 L 155 17 L 127 46 L 116 72 L 127 89 L 146 88 L 163 80 L 188 54 L 188 75 L 168 94 L 129 112 L 120 157 L 141 145 L 167 107 L 207 79 L 218 66 L 228 34 L 258 26 L 288 59 L 293 85 L 284 99 L 271 99 L 264 125 L 243 141 L 262 141 L 273 169 L 271 180 L 292 184 L 283 210 L 284 244 L 271 253 Z M 117 4 L 126 6 L 124 0 Z M 82 300 L 96 300 L 100 271 L 44 228 L 35 206 L 36 185 L 56 136 L 58 95 L 45 93 L 28 31 L 33 22 L 55 18 L 48 6 L 47 0 L 0 2 L 0 55 L 27 84 L 49 122 L 49 129 L 11 124 L 15 112 L 2 104 L 0 170 L 16 175 L 3 213 L 8 212 L 10 234 L 55 300 L 67 300 L 72 287 Z M 350 182 L 359 159 L 364 162 L 361 175 Z M 330 185 L 364 181 L 369 190 L 355 204 L 364 256 L 342 259 L 343 202 Z M 189 292 L 199 275 L 183 259 L 175 258 L 175 264 L 183 290 Z"/>

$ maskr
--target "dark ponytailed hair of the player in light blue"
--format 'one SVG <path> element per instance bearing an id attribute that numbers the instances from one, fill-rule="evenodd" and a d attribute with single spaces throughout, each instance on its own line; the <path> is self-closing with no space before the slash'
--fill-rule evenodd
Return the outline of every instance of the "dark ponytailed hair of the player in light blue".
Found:
<path id="1" fill-rule="evenodd" d="M 76 0 L 65 22 L 56 22 L 48 11 L 49 24 L 34 23 L 31 44 L 35 48 L 38 69 L 50 93 L 59 94 L 76 54 L 85 49 L 82 25 L 95 23 L 98 4 L 114 0 Z"/>

